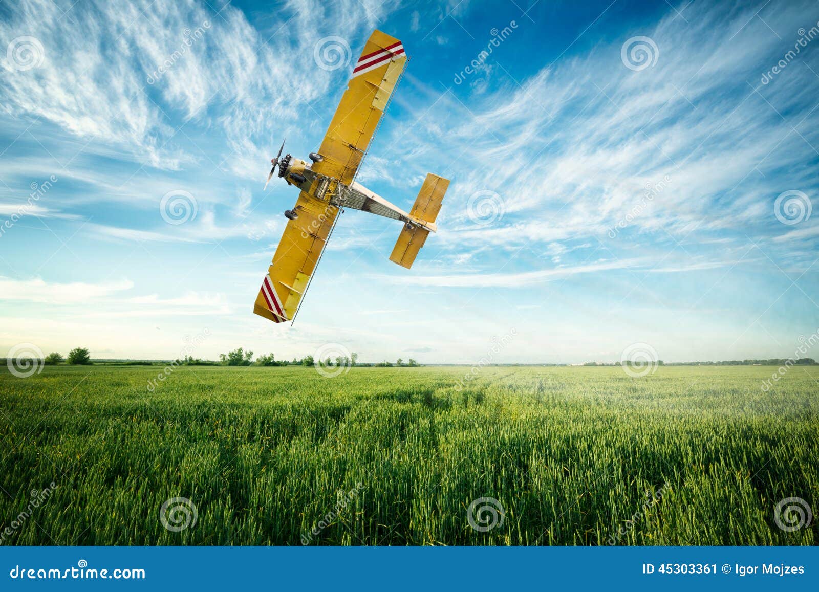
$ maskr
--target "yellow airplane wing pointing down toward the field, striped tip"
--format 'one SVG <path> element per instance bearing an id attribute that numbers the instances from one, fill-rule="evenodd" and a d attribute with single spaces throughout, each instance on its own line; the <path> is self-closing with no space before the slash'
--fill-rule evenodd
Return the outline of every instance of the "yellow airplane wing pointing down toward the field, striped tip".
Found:
<path id="1" fill-rule="evenodd" d="M 296 316 L 301 296 L 319 262 L 338 208 L 301 192 L 295 220 L 289 220 L 273 263 L 262 282 L 253 312 L 276 323 Z"/>

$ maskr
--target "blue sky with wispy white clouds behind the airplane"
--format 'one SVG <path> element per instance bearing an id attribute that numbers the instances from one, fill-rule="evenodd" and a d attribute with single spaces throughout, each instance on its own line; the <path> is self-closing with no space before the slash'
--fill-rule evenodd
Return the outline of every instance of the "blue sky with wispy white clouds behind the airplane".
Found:
<path id="1" fill-rule="evenodd" d="M 514 332 L 493 361 L 792 356 L 819 328 L 817 21 L 775 0 L 3 2 L 0 352 L 170 358 L 207 333 L 197 357 L 473 364 Z M 296 191 L 262 189 L 269 158 L 319 146 L 375 28 L 410 59 L 359 181 L 409 209 L 451 179 L 440 232 L 406 270 L 400 225 L 346 212 L 274 325 L 252 302 Z M 195 215 L 168 224 L 169 193 Z"/>

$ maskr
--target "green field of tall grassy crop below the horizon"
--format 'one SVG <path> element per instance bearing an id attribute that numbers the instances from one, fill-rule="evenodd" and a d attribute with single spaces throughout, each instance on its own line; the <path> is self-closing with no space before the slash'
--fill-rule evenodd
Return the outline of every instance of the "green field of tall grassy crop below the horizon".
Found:
<path id="1" fill-rule="evenodd" d="M 613 367 L 491 367 L 456 390 L 468 370 L 328 378 L 192 367 L 150 392 L 159 367 L 46 367 L 28 378 L 4 369 L 0 544 L 819 539 L 815 521 L 783 531 L 774 520 L 785 498 L 819 511 L 817 367 L 791 368 L 767 393 L 774 368 L 660 367 L 634 378 Z M 48 499 L 20 520 L 45 488 Z M 339 504 L 339 490 L 354 493 Z M 197 510 L 181 531 L 160 520 L 177 496 Z M 468 521 L 481 497 L 503 508 L 489 531 Z"/>

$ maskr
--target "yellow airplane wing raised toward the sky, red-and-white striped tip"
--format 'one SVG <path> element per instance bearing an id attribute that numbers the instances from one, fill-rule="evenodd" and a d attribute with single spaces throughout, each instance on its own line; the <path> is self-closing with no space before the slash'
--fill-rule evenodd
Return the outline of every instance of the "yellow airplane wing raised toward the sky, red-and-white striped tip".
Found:
<path id="1" fill-rule="evenodd" d="M 319 147 L 324 160 L 312 166 L 314 171 L 352 183 L 406 61 L 398 39 L 373 31 Z"/>

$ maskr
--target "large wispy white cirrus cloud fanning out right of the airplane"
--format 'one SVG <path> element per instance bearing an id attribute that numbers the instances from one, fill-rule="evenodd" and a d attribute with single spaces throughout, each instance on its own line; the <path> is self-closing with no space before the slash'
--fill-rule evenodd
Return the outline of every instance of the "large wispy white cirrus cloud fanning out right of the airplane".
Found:
<path id="1" fill-rule="evenodd" d="M 463 88 L 450 89 L 391 143 L 399 158 L 424 167 L 434 165 L 407 156 L 430 142 L 450 155 L 443 174 L 456 182 L 441 237 L 451 249 L 605 240 L 646 188 L 666 178 L 629 233 L 778 237 L 790 229 L 773 215 L 776 196 L 819 189 L 806 166 L 819 156 L 819 76 L 809 70 L 819 71 L 819 54 L 803 52 L 776 84 L 761 84 L 759 75 L 776 63 L 787 35 L 816 22 L 812 6 L 770 5 L 763 22 L 752 18 L 758 6 L 689 5 L 690 18 L 670 11 L 657 25 L 623 31 L 521 79 L 505 74 L 515 65 L 499 56 L 504 69 L 493 70 L 489 97 L 466 99 Z M 655 66 L 622 64 L 621 44 L 632 33 L 657 44 Z M 500 195 L 503 215 L 472 224 L 470 197 L 487 189 Z M 787 236 L 812 236 L 802 232 Z"/>

